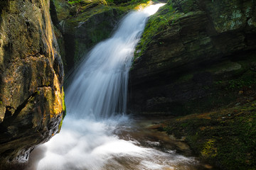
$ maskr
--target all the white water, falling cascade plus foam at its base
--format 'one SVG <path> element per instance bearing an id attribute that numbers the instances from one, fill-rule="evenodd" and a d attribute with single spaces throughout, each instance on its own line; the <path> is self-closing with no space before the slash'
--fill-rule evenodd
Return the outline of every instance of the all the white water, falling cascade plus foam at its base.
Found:
<path id="1" fill-rule="evenodd" d="M 66 93 L 63 128 L 31 154 L 28 169 L 188 169 L 194 162 L 174 151 L 161 152 L 119 137 L 118 129 L 133 128 L 124 113 L 134 47 L 146 18 L 159 6 L 151 6 L 153 12 L 129 13 L 112 38 L 96 45 L 80 64 Z"/>

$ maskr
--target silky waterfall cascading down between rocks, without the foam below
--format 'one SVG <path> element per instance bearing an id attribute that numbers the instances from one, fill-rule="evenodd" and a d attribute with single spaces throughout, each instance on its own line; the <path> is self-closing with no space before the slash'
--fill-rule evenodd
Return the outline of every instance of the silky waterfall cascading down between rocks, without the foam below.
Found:
<path id="1" fill-rule="evenodd" d="M 163 4 L 132 11 L 111 38 L 97 44 L 80 64 L 66 92 L 67 111 L 76 118 L 110 118 L 125 113 L 128 73 L 146 18 Z"/>

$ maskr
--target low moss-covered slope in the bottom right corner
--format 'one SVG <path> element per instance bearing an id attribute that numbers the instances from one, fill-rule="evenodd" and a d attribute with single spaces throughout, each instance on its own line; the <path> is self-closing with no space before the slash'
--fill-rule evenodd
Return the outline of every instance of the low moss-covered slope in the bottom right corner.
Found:
<path id="1" fill-rule="evenodd" d="M 255 169 L 256 101 L 170 120 L 164 130 L 221 169 Z"/>

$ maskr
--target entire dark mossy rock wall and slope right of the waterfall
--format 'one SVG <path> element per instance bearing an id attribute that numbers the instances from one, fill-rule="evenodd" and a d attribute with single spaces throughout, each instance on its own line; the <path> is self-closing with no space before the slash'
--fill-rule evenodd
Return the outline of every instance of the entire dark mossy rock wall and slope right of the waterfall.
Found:
<path id="1" fill-rule="evenodd" d="M 255 169 L 255 16 L 251 0 L 170 0 L 134 52 L 129 112 L 172 115 L 158 130 L 209 169 Z"/>

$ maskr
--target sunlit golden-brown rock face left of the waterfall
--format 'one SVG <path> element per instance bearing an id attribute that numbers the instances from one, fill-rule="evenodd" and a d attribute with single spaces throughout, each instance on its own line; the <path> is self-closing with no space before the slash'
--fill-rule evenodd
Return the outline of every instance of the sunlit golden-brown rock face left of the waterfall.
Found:
<path id="1" fill-rule="evenodd" d="M 63 119 L 63 63 L 49 6 L 45 0 L 0 2 L 1 166 L 26 162 Z"/>

